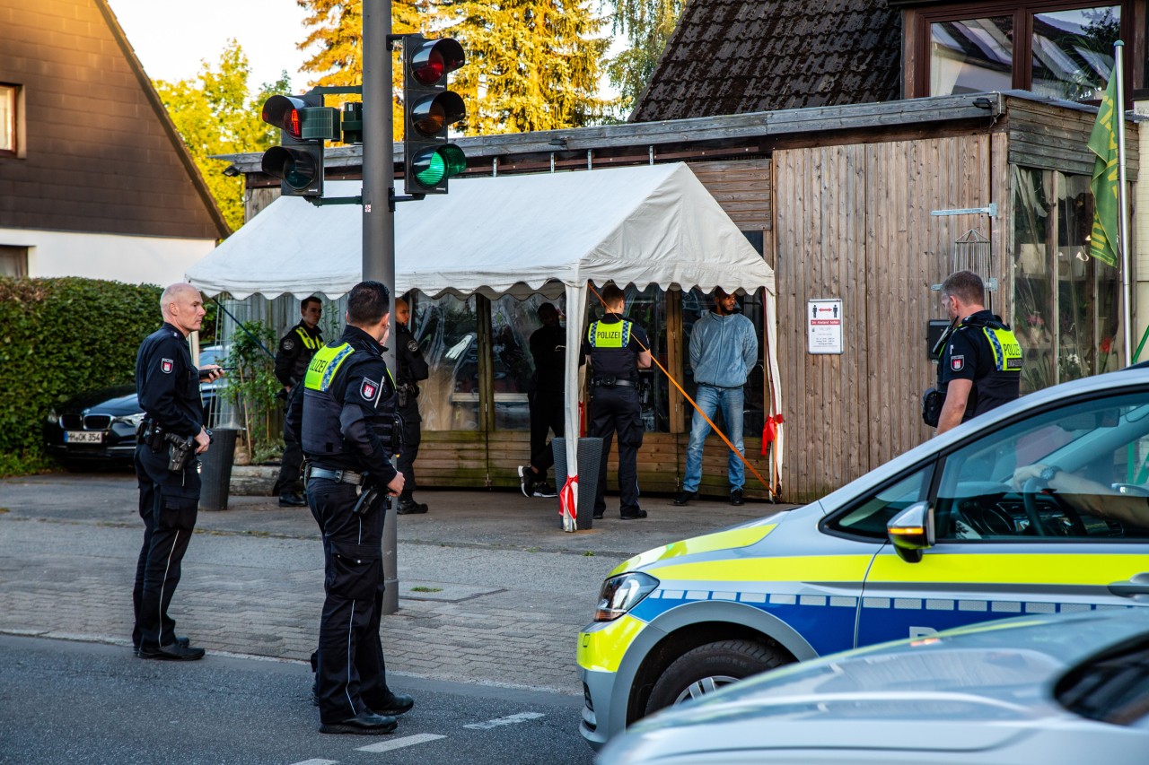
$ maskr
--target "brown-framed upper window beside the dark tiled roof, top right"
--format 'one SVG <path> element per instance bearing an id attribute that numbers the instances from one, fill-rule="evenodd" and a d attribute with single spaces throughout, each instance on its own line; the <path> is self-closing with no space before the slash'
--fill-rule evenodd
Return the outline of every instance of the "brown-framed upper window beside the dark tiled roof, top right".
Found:
<path id="1" fill-rule="evenodd" d="M 987 10 L 988 9 L 988 10 Z M 917 80 L 910 98 L 1011 87 L 1096 101 L 1113 69 L 1121 6 L 1088 2 L 942 6 L 917 15 Z"/>

